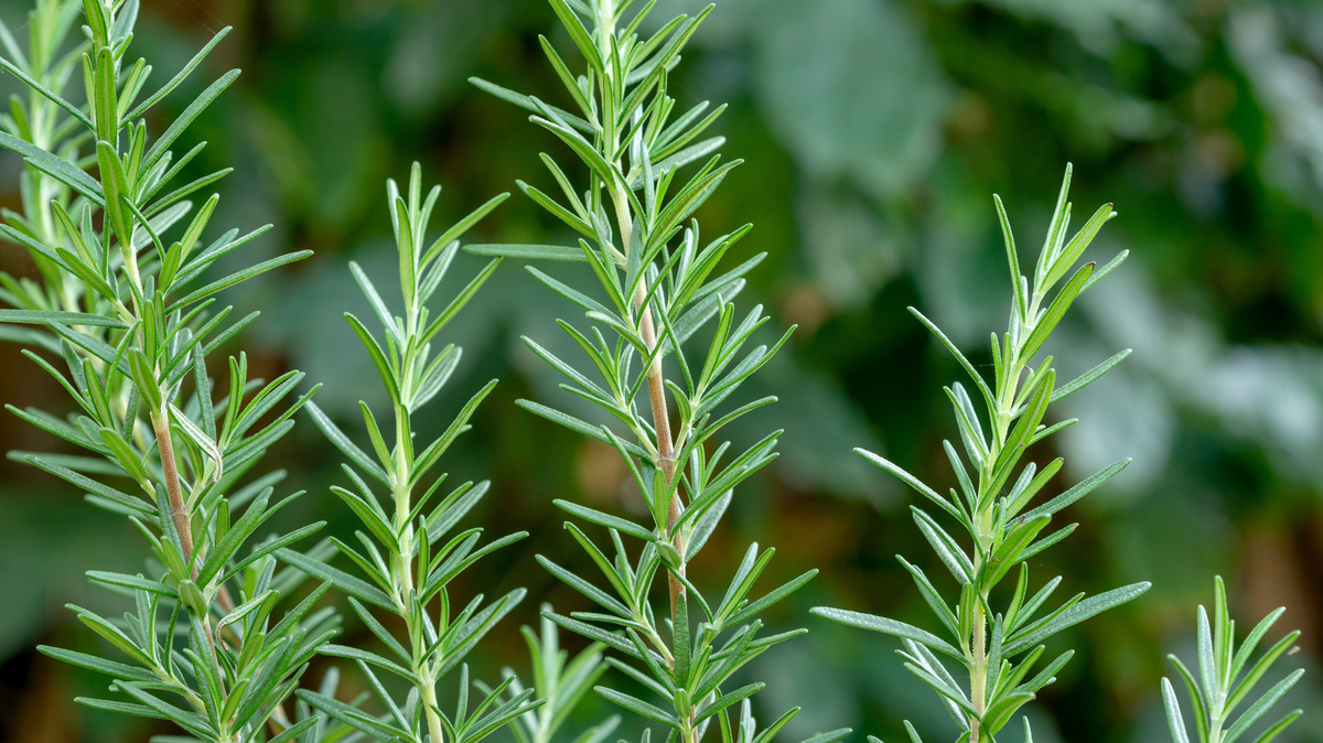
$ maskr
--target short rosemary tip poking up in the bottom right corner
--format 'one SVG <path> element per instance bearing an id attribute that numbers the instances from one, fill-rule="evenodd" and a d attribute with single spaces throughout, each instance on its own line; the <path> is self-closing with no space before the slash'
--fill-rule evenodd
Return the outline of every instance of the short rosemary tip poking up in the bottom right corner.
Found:
<path id="1" fill-rule="evenodd" d="M 1263 678 L 1273 662 L 1295 646 L 1301 632 L 1287 633 L 1250 664 L 1254 648 L 1286 609 L 1278 608 L 1265 616 L 1237 649 L 1236 623 L 1226 611 L 1226 587 L 1222 584 L 1221 576 L 1215 578 L 1213 592 L 1212 623 L 1209 623 L 1204 607 L 1199 607 L 1199 680 L 1195 680 L 1195 674 L 1185 668 L 1185 664 L 1180 662 L 1180 658 L 1167 657 L 1176 666 L 1176 672 L 1189 691 L 1199 743 L 1234 743 L 1245 736 L 1250 727 L 1304 674 L 1304 669 L 1293 672 L 1265 691 L 1232 722 L 1232 713 L 1236 711 L 1236 707 L 1249 698 L 1250 691 Z M 1176 691 L 1172 689 L 1171 681 L 1166 678 L 1162 680 L 1162 695 L 1167 706 L 1167 723 L 1171 727 L 1172 742 L 1189 743 L 1191 738 L 1185 727 L 1185 718 L 1180 713 L 1180 702 L 1176 701 Z M 1273 740 L 1302 714 L 1302 710 L 1287 713 L 1254 738 L 1254 743 Z"/>

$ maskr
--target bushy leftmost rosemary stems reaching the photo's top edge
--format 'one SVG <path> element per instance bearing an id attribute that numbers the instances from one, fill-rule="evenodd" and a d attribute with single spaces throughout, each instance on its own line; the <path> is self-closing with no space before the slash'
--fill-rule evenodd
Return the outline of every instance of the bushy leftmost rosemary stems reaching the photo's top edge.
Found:
<path id="1" fill-rule="evenodd" d="M 73 30 L 79 12 L 81 34 Z M 204 242 L 218 200 L 206 189 L 229 169 L 180 182 L 204 145 L 181 156 L 171 149 L 238 70 L 149 135 L 144 116 L 226 32 L 144 95 L 152 67 L 128 57 L 136 16 L 136 0 L 86 0 L 81 8 L 38 0 L 26 52 L 0 26 L 0 66 L 29 89 L 0 119 L 0 147 L 25 161 L 22 213 L 7 212 L 0 234 L 28 250 L 44 279 L 0 275 L 0 300 L 11 307 L 0 321 L 22 324 L 7 337 L 30 346 L 28 358 L 75 403 L 67 418 L 9 410 L 86 452 L 11 456 L 126 516 L 151 547 L 143 572 L 87 574 L 131 600 L 123 620 L 70 607 L 119 657 L 41 650 L 112 678 L 116 698 L 79 699 L 89 706 L 169 719 L 200 740 L 292 740 L 316 721 L 291 723 L 282 702 L 335 619 L 314 611 L 323 590 L 277 615 L 303 575 L 277 570 L 273 553 L 320 524 L 245 550 L 296 496 L 273 496 L 283 472 L 247 473 L 312 393 L 291 398 L 298 372 L 249 379 L 241 353 L 230 357 L 225 395 L 214 402 L 208 356 L 257 317 L 233 320 L 230 308 L 213 307 L 213 295 L 308 253 L 200 282 L 265 231 L 229 230 Z M 74 79 L 85 104 L 70 102 Z M 196 209 L 193 198 L 201 200 Z"/>

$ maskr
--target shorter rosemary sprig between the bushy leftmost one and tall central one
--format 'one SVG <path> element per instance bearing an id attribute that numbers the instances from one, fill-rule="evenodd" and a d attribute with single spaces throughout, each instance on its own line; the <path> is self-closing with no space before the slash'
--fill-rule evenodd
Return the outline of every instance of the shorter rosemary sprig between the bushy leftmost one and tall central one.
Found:
<path id="1" fill-rule="evenodd" d="M 414 164 L 407 192 L 401 193 L 394 181 L 389 181 L 386 192 L 400 254 L 402 312 L 392 315 L 366 274 L 351 263 L 355 280 L 382 325 L 385 342 L 378 341 L 353 315 L 347 313 L 345 317 L 386 387 L 394 431 L 382 434 L 376 415 L 365 402 L 360 402 L 373 452 L 368 455 L 321 410 L 308 405 L 318 427 L 349 457 L 344 471 L 352 488 L 332 489 L 363 521 L 365 531 L 356 533 L 361 549 L 335 538 L 331 542 L 363 571 L 366 580 L 312 555 L 291 550 L 282 553 L 283 559 L 348 595 L 355 613 L 381 640 L 386 654 L 345 645 L 327 645 L 321 652 L 355 661 L 385 706 L 386 715 L 373 717 L 327 694 L 300 691 L 299 695 L 312 707 L 377 740 L 442 743 L 448 736 L 452 743 L 472 743 L 537 706 L 531 701 L 531 689 L 503 698 L 515 681 L 508 677 L 496 689 L 487 690 L 486 697 L 470 710 L 468 668 L 460 665 L 478 641 L 524 598 L 524 590 L 511 591 L 486 606 L 479 595 L 467 604 L 456 604 L 458 611 L 451 609 L 448 591 L 450 582 L 463 570 L 484 555 L 523 539 L 527 533 L 501 537 L 478 547 L 483 530 L 474 528 L 442 542 L 487 493 L 488 483 L 464 483 L 434 500 L 446 476 L 437 476 L 430 484 L 427 481 L 450 444 L 470 428 L 470 418 L 496 381 L 480 389 L 446 431 L 426 446 L 415 444 L 411 419 L 441 393 L 459 364 L 458 346 L 434 345 L 439 333 L 492 275 L 500 259 L 491 260 L 441 312 L 433 315 L 427 303 L 459 250 L 459 237 L 508 194 L 492 198 L 427 242 L 427 226 L 441 186 L 433 188 L 425 198 L 422 169 Z M 389 512 L 382 508 L 369 481 L 389 490 Z M 398 617 L 398 632 L 392 632 L 377 620 L 373 609 Z M 447 714 L 438 706 L 437 684 L 456 668 L 460 670 L 458 707 Z M 409 694 L 402 703 L 392 698 L 378 680 L 378 672 L 407 682 Z"/>

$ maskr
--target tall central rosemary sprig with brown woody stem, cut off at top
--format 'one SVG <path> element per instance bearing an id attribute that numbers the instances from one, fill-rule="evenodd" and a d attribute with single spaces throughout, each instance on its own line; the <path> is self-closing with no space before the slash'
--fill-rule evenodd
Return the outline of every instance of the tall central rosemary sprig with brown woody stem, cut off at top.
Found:
<path id="1" fill-rule="evenodd" d="M 652 36 L 640 36 L 654 4 L 652 0 L 550 0 L 586 63 L 582 74 L 572 73 L 561 54 L 541 38 L 542 50 L 565 86 L 562 95 L 569 110 L 474 81 L 532 111 L 532 122 L 553 134 L 581 161 L 586 182 L 573 185 L 570 176 L 542 155 L 561 196 L 519 184 L 529 198 L 582 235 L 577 247 L 504 245 L 468 250 L 587 264 L 598 279 L 598 296 L 589 296 L 529 268 L 537 280 L 585 312 L 586 329 L 558 321 L 582 350 L 585 364 L 560 358 L 532 338 L 525 342 L 565 375 L 568 383 L 562 389 L 601 409 L 614 426 L 593 424 L 537 402 L 520 405 L 619 452 L 651 516 L 651 524 L 643 525 L 576 502 L 556 501 L 577 520 L 605 529 L 610 543 L 603 550 L 599 538 L 566 522 L 565 528 L 601 570 L 606 587 L 545 557 L 538 561 L 603 611 L 546 616 L 614 649 L 619 657 L 609 662 L 651 691 L 662 706 L 597 686 L 607 699 L 663 724 L 684 743 L 700 740 L 713 721 L 726 743 L 763 743 L 798 709 L 757 735 L 751 721 L 732 726 L 728 710 L 763 687 L 761 682 L 734 686 L 732 678 L 753 657 L 803 632 L 759 637 L 758 613 L 802 587 L 816 571 L 751 600 L 750 591 L 774 553 L 753 545 L 725 594 L 709 600 L 693 584 L 687 567 L 716 529 L 734 488 L 775 457 L 779 431 L 740 453 L 730 452 L 729 443 L 716 446 L 716 442 L 728 423 L 774 402 L 763 398 L 724 406 L 790 333 L 771 348 L 746 348 L 767 316 L 754 307 L 737 317 L 730 299 L 762 255 L 717 272 L 722 258 L 749 227 L 704 243 L 697 221 L 691 221 L 738 164 L 721 164 L 714 153 L 724 141 L 721 137 L 703 139 L 724 107 L 708 111 L 706 103 L 699 103 L 676 115 L 675 99 L 667 94 L 671 69 L 712 8 L 696 17 L 679 16 L 662 24 Z M 691 175 L 680 177 L 693 163 L 697 167 Z M 710 342 L 687 350 L 687 341 L 705 327 L 710 327 Z M 626 537 L 640 543 L 632 554 Z M 614 551 L 614 558 L 607 557 L 609 551 Z M 656 606 L 652 587 L 659 571 L 665 574 L 668 598 Z M 819 739 L 836 739 L 845 732 Z"/>

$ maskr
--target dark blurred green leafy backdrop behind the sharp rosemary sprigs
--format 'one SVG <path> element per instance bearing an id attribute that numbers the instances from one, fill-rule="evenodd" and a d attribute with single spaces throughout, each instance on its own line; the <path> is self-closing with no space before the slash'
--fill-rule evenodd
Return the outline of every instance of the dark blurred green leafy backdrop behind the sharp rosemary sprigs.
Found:
<path id="1" fill-rule="evenodd" d="M 558 87 L 536 36 L 566 45 L 554 16 L 540 0 L 143 5 L 138 52 L 157 70 L 177 69 L 210 33 L 235 26 L 206 67 L 212 77 L 235 66 L 245 73 L 197 124 L 194 136 L 210 147 L 196 167 L 237 168 L 222 182 L 218 223 L 275 225 L 250 255 L 312 249 L 316 256 L 228 300 L 263 311 L 242 344 L 255 368 L 269 377 L 306 370 L 325 383 L 319 403 L 352 420 L 356 399 L 381 394 L 340 319 L 361 309 L 345 263 L 393 270 L 382 182 L 405 177 L 418 159 L 425 177 L 446 186 L 438 212 L 454 218 L 512 190 L 517 177 L 545 180 L 536 155 L 558 145 L 466 78 L 552 95 Z M 729 139 L 728 157 L 747 163 L 700 217 L 709 234 L 755 225 L 734 259 L 770 256 L 742 301 L 769 304 L 799 331 L 745 393 L 782 402 L 734 432 L 753 440 L 785 427 L 783 455 L 737 496 L 691 574 L 700 587 L 724 587 L 754 539 L 779 550 L 769 586 L 823 570 L 771 616 L 812 632 L 749 670 L 769 682 L 759 717 L 802 705 L 791 736 L 851 726 L 859 739 L 886 740 L 898 739 L 908 717 L 931 739 L 950 739 L 949 721 L 901 669 L 892 640 L 828 625 L 807 609 L 832 604 L 929 621 L 893 557 L 934 563 L 905 512 L 912 496 L 851 448 L 885 452 L 947 484 L 941 440 L 954 426 L 941 386 L 959 369 L 905 307 L 919 307 L 963 348 L 984 348 L 987 333 L 1004 327 L 1008 301 L 991 194 L 1002 194 L 1021 245 L 1033 247 L 1073 161 L 1077 212 L 1113 201 L 1121 214 L 1094 256 L 1123 249 L 1132 256 L 1085 296 L 1050 350 L 1066 375 L 1119 348 L 1135 352 L 1060 406 L 1057 415 L 1081 423 L 1054 446 L 1070 480 L 1122 456 L 1135 461 L 1076 506 L 1076 535 L 1032 567 L 1039 582 L 1062 574 L 1066 592 L 1143 579 L 1154 588 L 1057 641 L 1080 652 L 1031 710 L 1035 739 L 1164 740 L 1163 656 L 1189 657 L 1195 606 L 1211 599 L 1212 575 L 1221 572 L 1242 627 L 1285 604 L 1281 629 L 1304 631 L 1304 652 L 1286 664 L 1311 669 L 1290 699 L 1308 714 L 1281 740 L 1323 740 L 1315 670 L 1323 632 L 1323 4 L 717 5 L 672 94 L 680 103 L 729 102 L 717 130 Z M 696 7 L 660 0 L 659 16 Z M 22 0 L 0 1 L 0 17 L 16 28 L 25 9 Z M 205 82 L 198 75 L 189 90 Z M 176 94 L 167 108 L 191 98 Z M 5 205 L 17 204 L 19 167 L 0 157 Z M 570 241 L 521 197 L 475 237 Z M 24 260 L 19 249 L 0 249 L 7 270 L 22 272 Z M 462 374 L 451 382 L 454 399 L 425 423 L 442 426 L 447 405 L 503 379 L 448 460 L 454 476 L 493 481 L 475 521 L 493 534 L 532 531 L 462 586 L 531 590 L 475 656 L 486 678 L 527 666 L 516 627 L 534 620 L 540 602 L 586 608 L 532 559 L 544 553 L 586 568 L 552 498 L 638 508 L 614 452 L 513 406 L 520 397 L 565 402 L 549 368 L 519 342 L 523 333 L 556 341 L 557 313 L 573 311 L 508 262 L 454 325 L 466 348 Z M 990 365 L 986 353 L 972 358 Z M 64 406 L 61 391 L 12 346 L 0 348 L 0 401 Z M 9 418 L 0 446 L 53 444 Z M 339 533 L 352 530 L 352 514 L 327 492 L 340 477 L 337 459 L 307 423 L 273 453 L 292 487 L 308 490 L 291 522 L 325 518 Z M 62 604 L 114 606 L 85 586 L 82 571 L 136 570 L 143 554 L 120 520 L 52 477 L 0 463 L 0 739 L 99 743 L 152 732 L 74 706 L 71 697 L 103 691 L 105 680 L 32 649 L 90 643 Z M 349 641 L 365 635 L 353 624 L 347 632 Z M 609 713 L 594 701 L 582 717 L 586 724 Z"/>

